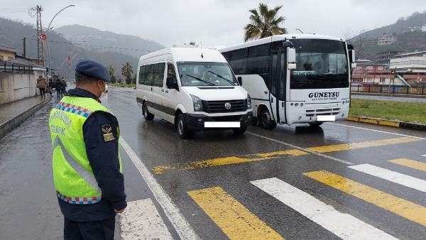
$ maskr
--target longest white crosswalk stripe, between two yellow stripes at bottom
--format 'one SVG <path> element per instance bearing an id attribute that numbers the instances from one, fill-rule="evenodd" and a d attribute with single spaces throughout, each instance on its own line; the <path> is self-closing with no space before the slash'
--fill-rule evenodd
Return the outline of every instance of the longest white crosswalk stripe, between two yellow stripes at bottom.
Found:
<path id="1" fill-rule="evenodd" d="M 251 181 L 251 184 L 342 239 L 396 239 L 350 214 L 338 212 L 334 207 L 278 178 Z"/>

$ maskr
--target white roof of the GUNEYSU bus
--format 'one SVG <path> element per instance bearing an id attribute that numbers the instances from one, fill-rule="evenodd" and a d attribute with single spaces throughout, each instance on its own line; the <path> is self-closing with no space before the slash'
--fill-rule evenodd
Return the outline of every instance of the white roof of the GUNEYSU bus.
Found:
<path id="1" fill-rule="evenodd" d="M 261 38 L 258 40 L 252 40 L 250 42 L 246 43 L 240 43 L 237 45 L 233 45 L 227 48 L 220 48 L 219 52 L 224 53 L 230 50 L 236 50 L 240 48 L 248 48 L 251 46 L 256 45 L 262 45 L 264 43 L 271 43 L 275 41 L 280 40 L 292 40 L 292 39 L 329 39 L 329 40 L 339 40 L 339 41 L 345 41 L 343 38 L 337 38 L 333 36 L 326 36 L 326 35 L 317 35 L 312 33 L 298 33 L 298 34 L 281 34 L 281 35 L 274 35 L 268 38 Z"/>

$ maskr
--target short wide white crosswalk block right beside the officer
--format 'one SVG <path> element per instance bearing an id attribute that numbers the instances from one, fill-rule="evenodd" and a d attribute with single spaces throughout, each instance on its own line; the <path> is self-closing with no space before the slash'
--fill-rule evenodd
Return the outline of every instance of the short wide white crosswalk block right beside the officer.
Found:
<path id="1" fill-rule="evenodd" d="M 128 202 L 120 214 L 121 239 L 173 239 L 151 199 Z"/>

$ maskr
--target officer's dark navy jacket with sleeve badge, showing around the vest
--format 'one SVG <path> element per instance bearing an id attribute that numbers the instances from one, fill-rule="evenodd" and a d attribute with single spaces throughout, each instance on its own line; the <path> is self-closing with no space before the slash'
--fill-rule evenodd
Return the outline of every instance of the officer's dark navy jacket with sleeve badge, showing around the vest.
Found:
<path id="1" fill-rule="evenodd" d="M 70 89 L 68 95 L 75 97 L 97 97 L 84 89 Z M 84 106 L 82 106 L 84 107 Z M 104 141 L 102 126 L 112 127 L 114 141 Z M 119 127 L 117 119 L 103 111 L 95 111 L 83 125 L 84 143 L 87 157 L 92 167 L 94 177 L 102 189 L 102 200 L 95 204 L 70 204 L 58 198 L 62 214 L 72 221 L 98 221 L 115 217 L 116 210 L 127 206 L 124 193 L 124 176 L 120 173 L 119 146 L 116 136 Z"/>

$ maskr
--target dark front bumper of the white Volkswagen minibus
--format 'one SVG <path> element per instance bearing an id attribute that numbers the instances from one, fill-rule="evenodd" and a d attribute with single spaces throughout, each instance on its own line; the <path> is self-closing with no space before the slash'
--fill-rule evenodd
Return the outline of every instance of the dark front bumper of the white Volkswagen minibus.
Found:
<path id="1" fill-rule="evenodd" d="M 232 129 L 229 124 L 237 123 L 240 127 L 251 125 L 253 119 L 253 111 L 248 111 L 242 115 L 231 116 L 206 116 L 204 114 L 183 114 L 187 128 L 190 130 L 218 130 L 218 129 Z M 224 127 L 205 127 L 204 123 L 223 123 Z"/>

